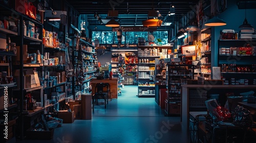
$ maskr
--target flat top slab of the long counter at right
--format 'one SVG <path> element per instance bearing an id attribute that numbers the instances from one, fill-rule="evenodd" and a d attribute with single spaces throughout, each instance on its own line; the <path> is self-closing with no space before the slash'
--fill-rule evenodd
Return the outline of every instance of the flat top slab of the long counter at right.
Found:
<path id="1" fill-rule="evenodd" d="M 256 88 L 256 85 L 198 85 L 186 84 L 181 85 L 184 88 Z"/>

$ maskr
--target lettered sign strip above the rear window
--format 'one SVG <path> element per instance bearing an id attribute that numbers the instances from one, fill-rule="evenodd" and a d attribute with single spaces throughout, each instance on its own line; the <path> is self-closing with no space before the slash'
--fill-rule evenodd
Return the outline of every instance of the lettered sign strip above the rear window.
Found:
<path id="1" fill-rule="evenodd" d="M 112 31 L 115 32 L 118 29 L 121 29 L 123 32 L 148 32 L 148 31 L 157 31 L 157 28 L 148 28 L 148 27 L 116 27 L 112 28 Z"/>

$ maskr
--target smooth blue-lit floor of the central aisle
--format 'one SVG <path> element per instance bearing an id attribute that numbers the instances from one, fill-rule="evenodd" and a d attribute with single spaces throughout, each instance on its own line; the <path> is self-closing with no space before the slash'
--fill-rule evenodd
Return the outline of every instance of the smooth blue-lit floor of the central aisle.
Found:
<path id="1" fill-rule="evenodd" d="M 138 98 L 138 87 L 125 85 L 122 95 L 104 105 L 95 106 L 92 120 L 75 120 L 56 128 L 51 140 L 18 142 L 53 143 L 155 143 L 189 142 L 180 117 L 164 116 L 155 98 Z"/>

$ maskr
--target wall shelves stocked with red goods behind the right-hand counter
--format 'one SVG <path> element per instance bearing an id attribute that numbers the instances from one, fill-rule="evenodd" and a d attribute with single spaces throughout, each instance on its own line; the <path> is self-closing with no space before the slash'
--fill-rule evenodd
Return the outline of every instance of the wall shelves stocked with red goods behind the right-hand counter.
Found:
<path id="1" fill-rule="evenodd" d="M 254 39 L 219 40 L 218 66 L 224 84 L 256 84 L 256 45 Z"/>

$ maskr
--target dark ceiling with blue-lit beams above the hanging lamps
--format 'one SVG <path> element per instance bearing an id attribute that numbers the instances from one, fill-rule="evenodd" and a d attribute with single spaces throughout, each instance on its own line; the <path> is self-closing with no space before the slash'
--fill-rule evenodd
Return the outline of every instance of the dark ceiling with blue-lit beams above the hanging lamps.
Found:
<path id="1" fill-rule="evenodd" d="M 172 1 L 138 1 L 138 0 L 109 0 L 109 1 L 68 1 L 80 14 L 87 14 L 87 21 L 90 26 L 99 25 L 95 18 L 97 13 L 104 25 L 111 17 L 108 17 L 109 10 L 118 11 L 118 17 L 115 17 L 121 26 L 141 26 L 142 20 L 148 18 L 148 12 L 151 10 L 159 11 L 159 19 L 166 22 L 178 21 L 188 11 L 195 11 L 199 0 L 172 0 Z M 209 1 L 209 0 L 206 0 Z M 175 15 L 168 16 L 170 5 L 175 6 Z M 169 23 L 168 23 L 169 24 Z"/>

